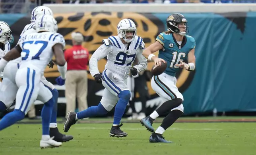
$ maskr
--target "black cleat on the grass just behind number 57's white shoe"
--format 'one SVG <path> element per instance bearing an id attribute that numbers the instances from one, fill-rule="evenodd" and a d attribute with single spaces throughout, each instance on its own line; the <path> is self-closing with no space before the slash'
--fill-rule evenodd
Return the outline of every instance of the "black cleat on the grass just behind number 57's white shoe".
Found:
<path id="1" fill-rule="evenodd" d="M 50 128 L 50 137 L 54 137 L 53 140 L 57 142 L 68 142 L 74 138 L 71 135 L 60 133 L 58 128 Z"/>

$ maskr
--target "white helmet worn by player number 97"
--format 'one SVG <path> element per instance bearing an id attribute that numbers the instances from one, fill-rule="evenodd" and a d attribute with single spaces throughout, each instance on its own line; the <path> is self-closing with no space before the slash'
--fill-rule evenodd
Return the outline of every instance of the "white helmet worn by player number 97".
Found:
<path id="1" fill-rule="evenodd" d="M 126 31 L 133 31 L 132 35 L 126 35 Z M 130 19 L 122 19 L 117 25 L 117 34 L 125 42 L 130 43 L 136 36 L 136 25 Z"/>

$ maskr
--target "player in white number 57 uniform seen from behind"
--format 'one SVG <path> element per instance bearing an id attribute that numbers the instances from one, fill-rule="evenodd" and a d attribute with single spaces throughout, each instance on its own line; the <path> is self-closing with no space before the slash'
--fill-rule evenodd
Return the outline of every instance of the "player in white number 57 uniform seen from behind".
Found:
<path id="1" fill-rule="evenodd" d="M 54 141 L 54 137 L 50 138 L 49 133 L 55 101 L 50 90 L 41 81 L 41 77 L 54 54 L 60 76 L 62 79 L 66 78 L 67 63 L 63 53 L 65 40 L 61 34 L 56 33 L 57 21 L 50 15 L 39 17 L 35 21 L 35 26 L 36 33 L 23 34 L 19 44 L 0 60 L 0 71 L 3 71 L 8 61 L 17 57 L 22 59 L 15 77 L 18 87 L 15 110 L 2 118 L 0 130 L 23 119 L 31 104 L 39 99 L 45 103 L 41 112 L 43 135 L 40 147 L 58 147 L 62 143 Z"/>

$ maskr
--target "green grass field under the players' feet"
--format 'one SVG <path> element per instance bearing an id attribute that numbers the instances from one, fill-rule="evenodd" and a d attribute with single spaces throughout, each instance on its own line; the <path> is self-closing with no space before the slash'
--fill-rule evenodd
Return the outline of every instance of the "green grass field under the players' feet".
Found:
<path id="1" fill-rule="evenodd" d="M 113 138 L 109 136 L 111 125 L 77 123 L 68 132 L 74 140 L 59 148 L 41 149 L 41 124 L 15 124 L 0 132 L 0 155 L 254 155 L 256 152 L 256 123 L 252 122 L 175 123 L 164 133 L 165 139 L 173 144 L 149 143 L 151 134 L 140 123 L 124 123 L 121 129 L 128 136 Z M 159 125 L 154 123 L 153 127 Z M 58 124 L 63 133 L 62 127 L 62 123 Z"/>

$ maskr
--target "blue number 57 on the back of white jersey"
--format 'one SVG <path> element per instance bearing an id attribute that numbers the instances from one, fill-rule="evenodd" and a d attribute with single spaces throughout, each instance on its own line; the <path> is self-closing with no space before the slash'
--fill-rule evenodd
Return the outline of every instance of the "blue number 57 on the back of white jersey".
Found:
<path id="1" fill-rule="evenodd" d="M 39 60 L 39 55 L 43 52 L 43 50 L 47 47 L 48 45 L 48 42 L 46 41 L 41 41 L 41 40 L 38 40 L 38 41 L 27 41 L 27 42 L 23 42 L 22 43 L 22 51 L 26 53 L 25 57 L 22 57 L 22 60 L 27 60 L 27 58 L 29 57 L 29 49 L 24 49 L 24 45 L 28 43 L 28 44 L 43 44 L 42 47 L 39 49 L 39 51 L 37 52 L 37 54 L 35 54 L 31 59 L 38 59 Z"/>

